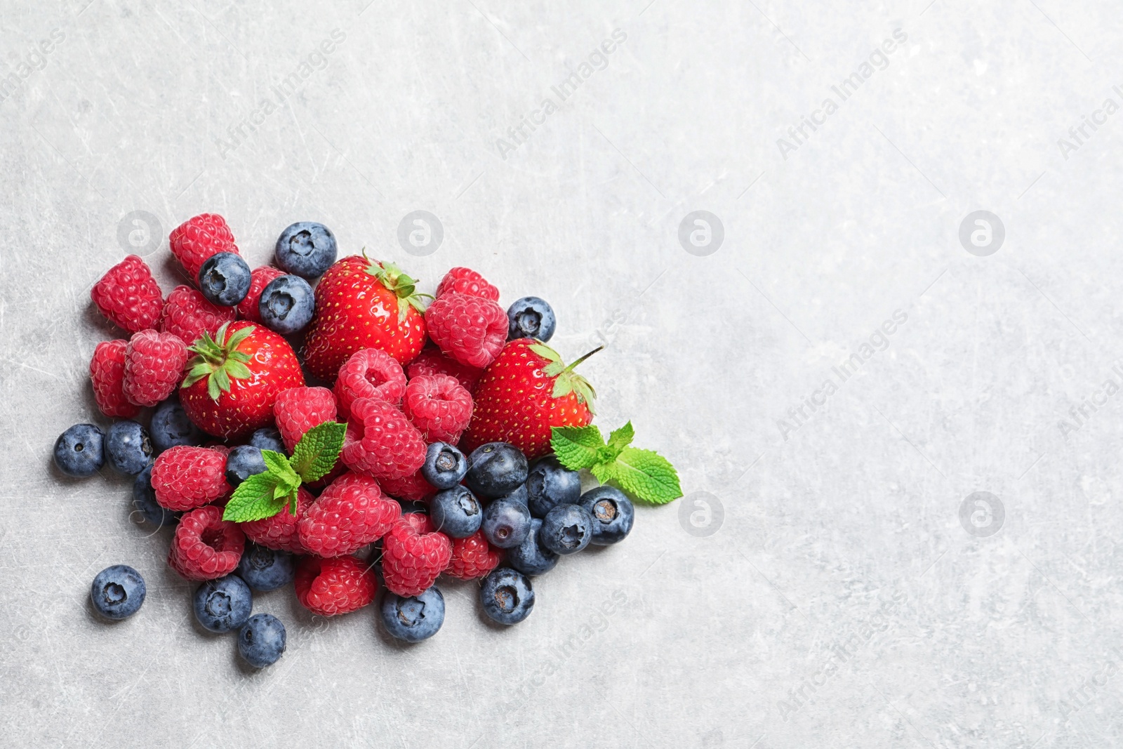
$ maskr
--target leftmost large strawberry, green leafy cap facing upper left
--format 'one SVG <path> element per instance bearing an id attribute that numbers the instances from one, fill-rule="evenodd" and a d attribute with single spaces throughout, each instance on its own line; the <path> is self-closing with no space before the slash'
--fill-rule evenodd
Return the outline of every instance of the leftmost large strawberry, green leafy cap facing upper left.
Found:
<path id="1" fill-rule="evenodd" d="M 228 322 L 191 347 L 180 403 L 203 431 L 230 439 L 273 423 L 273 404 L 304 375 L 284 338 L 256 322 Z"/>

